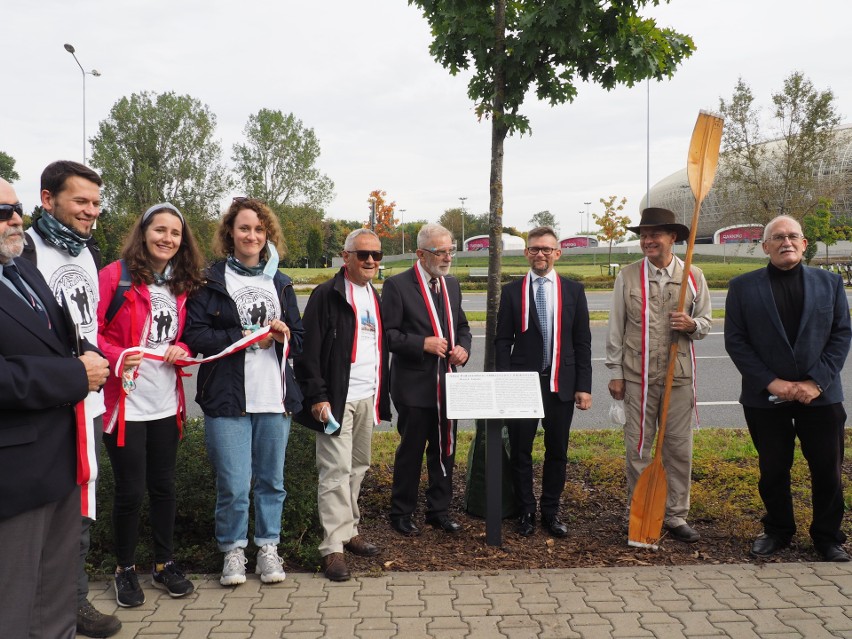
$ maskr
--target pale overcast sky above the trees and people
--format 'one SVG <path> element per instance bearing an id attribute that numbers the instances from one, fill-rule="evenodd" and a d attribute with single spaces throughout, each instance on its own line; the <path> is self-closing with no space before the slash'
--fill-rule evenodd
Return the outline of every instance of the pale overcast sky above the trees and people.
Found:
<path id="1" fill-rule="evenodd" d="M 27 208 L 57 159 L 82 160 L 82 74 L 87 137 L 123 96 L 175 91 L 207 104 L 230 165 L 248 116 L 292 112 L 316 132 L 320 169 L 335 183 L 331 216 L 367 216 L 375 188 L 405 220 L 437 220 L 459 205 L 488 209 L 490 124 L 479 123 L 467 77 L 429 55 L 429 29 L 405 0 L 38 0 L 0 10 L 3 99 L 0 150 L 16 160 Z M 647 12 L 690 34 L 698 47 L 670 81 L 650 86 L 650 180 L 686 163 L 699 109 L 718 107 L 737 78 L 768 105 L 798 70 L 831 88 L 844 121 L 852 113 L 846 0 L 674 0 Z M 626 196 L 638 219 L 646 186 L 646 85 L 607 93 L 580 87 L 573 104 L 530 98 L 532 135 L 510 138 L 504 224 L 528 228 L 547 209 L 562 234 L 600 198 Z M 91 151 L 88 151 L 91 155 Z M 585 222 L 582 222 L 585 226 Z"/>

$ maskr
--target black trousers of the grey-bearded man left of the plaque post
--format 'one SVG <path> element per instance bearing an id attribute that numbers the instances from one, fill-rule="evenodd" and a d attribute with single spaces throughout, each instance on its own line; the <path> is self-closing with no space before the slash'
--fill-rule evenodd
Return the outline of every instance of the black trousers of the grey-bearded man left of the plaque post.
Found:
<path id="1" fill-rule="evenodd" d="M 391 519 L 410 516 L 417 508 L 420 468 L 426 449 L 426 469 L 429 486 L 426 488 L 426 517 L 446 515 L 453 498 L 453 466 L 455 464 L 456 422 L 453 421 L 453 449 L 447 454 L 446 429 L 438 430 L 438 409 L 397 405 L 399 446 L 393 467 L 391 488 Z"/>

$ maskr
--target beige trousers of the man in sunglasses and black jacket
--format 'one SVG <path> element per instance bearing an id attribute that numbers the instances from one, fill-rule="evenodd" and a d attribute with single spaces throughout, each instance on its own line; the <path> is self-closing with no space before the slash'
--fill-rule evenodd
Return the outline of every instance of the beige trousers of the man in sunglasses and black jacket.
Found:
<path id="1" fill-rule="evenodd" d="M 323 557 L 343 552 L 343 544 L 358 534 L 358 495 L 370 467 L 373 416 L 372 397 L 347 402 L 340 434 L 317 433 L 317 505 L 325 533 L 319 551 Z"/>

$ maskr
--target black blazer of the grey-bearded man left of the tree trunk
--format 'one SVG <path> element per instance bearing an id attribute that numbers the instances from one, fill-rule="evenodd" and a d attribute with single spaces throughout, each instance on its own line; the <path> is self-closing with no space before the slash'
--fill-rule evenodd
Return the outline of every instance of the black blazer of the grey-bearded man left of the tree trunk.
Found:
<path id="1" fill-rule="evenodd" d="M 413 268 L 385 280 L 382 287 L 382 321 L 393 354 L 390 393 L 395 404 L 434 408 L 437 397 L 437 355 L 426 353 L 423 343 L 434 335 L 432 323 Z M 445 277 L 453 315 L 456 344 L 470 353 L 471 335 L 461 307 L 461 288 L 454 277 Z"/>

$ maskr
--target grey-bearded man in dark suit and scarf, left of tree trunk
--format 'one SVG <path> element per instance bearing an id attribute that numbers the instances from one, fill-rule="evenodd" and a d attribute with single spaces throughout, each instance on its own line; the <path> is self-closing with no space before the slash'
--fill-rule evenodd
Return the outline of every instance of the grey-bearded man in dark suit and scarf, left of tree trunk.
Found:
<path id="1" fill-rule="evenodd" d="M 390 392 L 401 436 L 390 521 L 406 536 L 420 534 L 411 517 L 427 443 L 426 523 L 448 533 L 461 530 L 448 514 L 456 423 L 447 419 L 444 393 L 447 373 L 464 366 L 471 344 L 459 283 L 447 275 L 456 252 L 452 235 L 440 224 L 426 224 L 417 234 L 416 252 L 415 265 L 388 278 L 382 290 L 382 320 L 393 354 Z"/>

